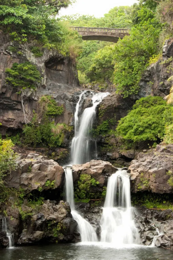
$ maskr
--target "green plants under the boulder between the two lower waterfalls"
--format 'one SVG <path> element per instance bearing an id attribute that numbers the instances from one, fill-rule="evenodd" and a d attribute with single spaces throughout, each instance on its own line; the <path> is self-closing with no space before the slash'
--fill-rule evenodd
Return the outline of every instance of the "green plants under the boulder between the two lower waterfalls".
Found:
<path id="1" fill-rule="evenodd" d="M 93 196 L 93 194 L 90 192 L 91 187 L 96 187 L 99 184 L 99 181 L 96 181 L 94 178 L 92 178 L 88 174 L 81 174 L 78 184 L 75 187 L 75 198 L 86 200 L 89 202 L 89 198 Z"/>

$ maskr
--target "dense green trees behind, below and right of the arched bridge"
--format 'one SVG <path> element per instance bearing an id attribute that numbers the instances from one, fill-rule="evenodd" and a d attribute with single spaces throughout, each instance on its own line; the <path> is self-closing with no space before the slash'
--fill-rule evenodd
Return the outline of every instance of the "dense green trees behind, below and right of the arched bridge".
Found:
<path id="1" fill-rule="evenodd" d="M 124 97 L 139 90 L 146 67 L 162 55 L 165 39 L 172 37 L 172 0 L 140 0 L 133 6 L 111 9 L 104 17 L 74 15 L 61 17 L 73 26 L 131 29 L 130 36 L 115 44 L 84 41 L 78 57 L 81 83 L 113 84 Z"/>

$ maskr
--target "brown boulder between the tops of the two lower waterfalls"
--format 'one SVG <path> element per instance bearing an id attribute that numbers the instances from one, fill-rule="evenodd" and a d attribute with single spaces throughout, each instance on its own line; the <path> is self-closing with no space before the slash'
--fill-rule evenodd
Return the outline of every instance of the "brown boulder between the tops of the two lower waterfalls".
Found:
<path id="1" fill-rule="evenodd" d="M 72 166 L 73 181 L 79 179 L 80 174 L 88 174 L 96 181 L 99 181 L 99 187 L 107 184 L 107 178 L 115 173 L 117 169 L 110 163 L 101 160 L 91 160 L 85 164 L 76 164 Z"/>

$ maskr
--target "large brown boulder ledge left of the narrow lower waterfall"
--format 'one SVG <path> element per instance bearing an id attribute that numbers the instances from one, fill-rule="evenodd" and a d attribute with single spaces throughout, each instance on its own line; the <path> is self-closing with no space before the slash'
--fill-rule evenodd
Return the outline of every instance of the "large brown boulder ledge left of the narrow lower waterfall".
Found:
<path id="1" fill-rule="evenodd" d="M 19 155 L 20 157 L 20 155 Z M 18 158 L 19 159 L 19 158 Z M 53 181 L 53 188 L 63 185 L 64 170 L 54 160 L 36 153 L 29 153 L 26 159 L 17 160 L 17 170 L 6 176 L 6 185 L 18 189 L 23 188 L 26 193 L 41 188 L 50 189 L 46 181 Z"/>

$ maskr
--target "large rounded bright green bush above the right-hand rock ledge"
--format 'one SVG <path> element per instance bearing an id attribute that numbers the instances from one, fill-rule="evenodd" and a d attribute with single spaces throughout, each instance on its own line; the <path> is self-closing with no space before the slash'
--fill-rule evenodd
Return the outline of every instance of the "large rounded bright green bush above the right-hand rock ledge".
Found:
<path id="1" fill-rule="evenodd" d="M 162 97 L 143 97 L 136 101 L 127 116 L 121 118 L 116 134 L 132 142 L 163 139 L 165 124 L 172 120 L 173 107 L 166 105 Z"/>

